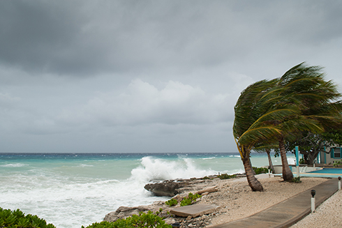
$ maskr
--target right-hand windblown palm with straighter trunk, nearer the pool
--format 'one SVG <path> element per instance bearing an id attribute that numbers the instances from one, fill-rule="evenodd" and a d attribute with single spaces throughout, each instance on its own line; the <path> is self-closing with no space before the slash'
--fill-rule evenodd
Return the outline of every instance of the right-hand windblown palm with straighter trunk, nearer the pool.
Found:
<path id="1" fill-rule="evenodd" d="M 341 101 L 336 101 L 341 94 L 336 84 L 326 82 L 322 68 L 305 66 L 304 63 L 288 70 L 279 80 L 283 90 L 278 96 L 281 103 L 292 104 L 300 110 L 299 116 L 292 116 L 290 121 L 281 123 L 283 133 L 278 135 L 279 151 L 283 163 L 283 178 L 290 181 L 293 174 L 288 167 L 284 139 L 291 140 L 299 131 L 322 132 L 341 121 Z"/>

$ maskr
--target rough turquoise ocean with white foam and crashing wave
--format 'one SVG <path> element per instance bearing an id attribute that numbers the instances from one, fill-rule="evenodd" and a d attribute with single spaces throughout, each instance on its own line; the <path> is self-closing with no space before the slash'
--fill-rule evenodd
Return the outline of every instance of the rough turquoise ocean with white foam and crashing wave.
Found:
<path id="1" fill-rule="evenodd" d="M 252 153 L 251 161 L 268 165 L 266 153 Z M 170 199 L 144 190 L 150 181 L 218 172 L 244 173 L 239 153 L 0 153 L 0 207 L 80 228 L 119 206 Z"/>

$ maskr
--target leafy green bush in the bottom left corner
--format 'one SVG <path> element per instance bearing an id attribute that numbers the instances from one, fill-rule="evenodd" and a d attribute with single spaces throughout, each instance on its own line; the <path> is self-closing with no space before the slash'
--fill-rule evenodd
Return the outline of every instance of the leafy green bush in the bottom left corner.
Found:
<path id="1" fill-rule="evenodd" d="M 37 215 L 24 215 L 22 211 L 10 211 L 0 207 L 0 227 L 1 228 L 56 228 L 52 224 L 46 224 L 46 221 L 38 218 Z"/>

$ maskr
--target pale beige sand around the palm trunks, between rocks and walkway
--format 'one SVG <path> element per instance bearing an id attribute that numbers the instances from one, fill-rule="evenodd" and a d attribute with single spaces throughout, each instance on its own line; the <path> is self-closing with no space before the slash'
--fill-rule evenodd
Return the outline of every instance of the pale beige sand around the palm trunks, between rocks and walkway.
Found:
<path id="1" fill-rule="evenodd" d="M 205 227 L 211 227 L 248 217 L 327 181 L 326 178 L 301 178 L 301 180 L 302 183 L 288 183 L 280 177 L 259 178 L 264 192 L 253 192 L 245 178 L 226 180 L 216 178 L 194 185 L 191 191 L 217 185 L 218 192 L 211 192 L 198 202 L 198 204 L 221 206 L 220 210 L 209 215 L 209 224 Z"/>

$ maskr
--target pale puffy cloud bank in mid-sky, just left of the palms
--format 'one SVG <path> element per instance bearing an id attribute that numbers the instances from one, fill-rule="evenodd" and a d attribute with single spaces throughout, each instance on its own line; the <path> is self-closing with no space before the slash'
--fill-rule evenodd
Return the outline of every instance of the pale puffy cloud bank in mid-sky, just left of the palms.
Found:
<path id="1" fill-rule="evenodd" d="M 206 94 L 200 88 L 180 82 L 168 82 L 158 90 L 135 79 L 121 94 L 101 93 L 87 104 L 65 110 L 59 121 L 92 123 L 103 126 L 137 126 L 152 123 L 166 125 L 203 125 L 227 121 L 232 103 L 227 94 Z"/>

